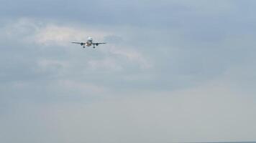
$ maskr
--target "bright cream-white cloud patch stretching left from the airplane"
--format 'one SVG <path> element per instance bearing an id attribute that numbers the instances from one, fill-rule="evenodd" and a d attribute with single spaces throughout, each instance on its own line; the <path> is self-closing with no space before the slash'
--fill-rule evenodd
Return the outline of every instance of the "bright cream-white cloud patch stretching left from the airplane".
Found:
<path id="1" fill-rule="evenodd" d="M 86 41 L 88 36 L 104 39 L 109 32 L 97 31 L 89 26 L 60 26 L 50 21 L 37 21 L 35 19 L 21 18 L 7 23 L 1 31 L 10 39 L 18 39 L 27 43 L 42 46 L 67 46 L 70 41 Z"/>

